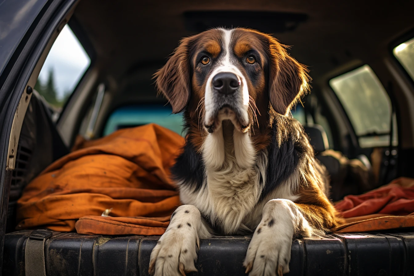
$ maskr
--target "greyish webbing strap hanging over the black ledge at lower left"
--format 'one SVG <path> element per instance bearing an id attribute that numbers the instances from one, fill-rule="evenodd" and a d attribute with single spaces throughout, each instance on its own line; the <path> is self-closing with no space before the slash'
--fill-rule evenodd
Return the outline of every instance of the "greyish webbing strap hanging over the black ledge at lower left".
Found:
<path id="1" fill-rule="evenodd" d="M 46 276 L 45 241 L 52 236 L 48 230 L 34 230 L 26 241 L 24 265 L 26 276 Z"/>

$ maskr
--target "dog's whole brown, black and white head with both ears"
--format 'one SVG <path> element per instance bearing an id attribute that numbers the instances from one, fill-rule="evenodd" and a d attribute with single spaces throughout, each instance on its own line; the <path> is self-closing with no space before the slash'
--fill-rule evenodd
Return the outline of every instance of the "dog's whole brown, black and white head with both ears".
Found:
<path id="1" fill-rule="evenodd" d="M 306 67 L 284 45 L 242 28 L 183 38 L 155 77 L 173 113 L 185 110 L 199 130 L 210 133 L 223 120 L 241 132 L 268 124 L 272 112 L 286 115 L 308 89 Z"/>

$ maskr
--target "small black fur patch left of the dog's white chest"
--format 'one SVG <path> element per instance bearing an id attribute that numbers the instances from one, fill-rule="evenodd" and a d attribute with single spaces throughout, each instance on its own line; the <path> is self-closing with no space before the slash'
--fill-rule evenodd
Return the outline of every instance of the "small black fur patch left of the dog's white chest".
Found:
<path id="1" fill-rule="evenodd" d="M 186 141 L 183 153 L 176 158 L 176 163 L 171 168 L 173 180 L 181 182 L 183 186 L 200 190 L 204 180 L 205 166 L 201 155 L 194 149 L 190 141 Z"/>

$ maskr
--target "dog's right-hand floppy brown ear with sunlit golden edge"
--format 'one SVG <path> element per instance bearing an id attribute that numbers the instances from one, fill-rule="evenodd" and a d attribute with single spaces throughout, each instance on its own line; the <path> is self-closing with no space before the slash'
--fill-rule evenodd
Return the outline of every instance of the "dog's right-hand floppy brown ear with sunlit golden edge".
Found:
<path id="1" fill-rule="evenodd" d="M 269 99 L 273 109 L 282 115 L 290 110 L 309 90 L 310 77 L 304 65 L 298 63 L 272 36 L 269 39 Z"/>

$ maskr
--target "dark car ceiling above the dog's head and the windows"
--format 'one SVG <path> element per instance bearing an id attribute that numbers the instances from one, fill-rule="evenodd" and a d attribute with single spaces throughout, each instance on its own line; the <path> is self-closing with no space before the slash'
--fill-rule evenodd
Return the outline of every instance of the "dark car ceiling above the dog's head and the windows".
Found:
<path id="1" fill-rule="evenodd" d="M 103 73 L 121 89 L 127 89 L 149 83 L 180 38 L 197 33 L 209 22 L 231 22 L 214 18 L 214 11 L 230 14 L 228 17 L 235 21 L 233 26 L 248 24 L 274 33 L 279 41 L 291 46 L 290 53 L 296 60 L 309 66 L 316 80 L 352 60 L 367 62 L 380 57 L 392 41 L 414 28 L 413 10 L 414 1 L 382 5 L 361 0 L 81 0 L 74 17 L 95 49 Z M 260 17 L 260 12 L 268 16 Z M 280 25 L 285 17 L 286 26 L 291 26 L 290 19 L 297 19 L 290 28 L 293 30 L 283 29 L 283 22 Z M 204 18 L 204 25 L 197 23 L 199 18 Z"/>

